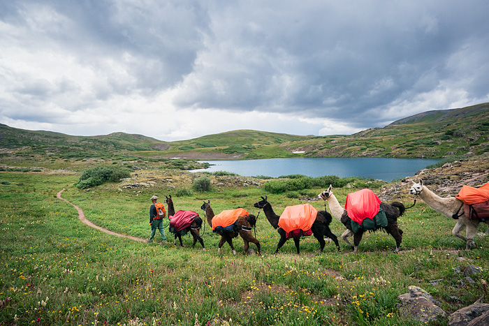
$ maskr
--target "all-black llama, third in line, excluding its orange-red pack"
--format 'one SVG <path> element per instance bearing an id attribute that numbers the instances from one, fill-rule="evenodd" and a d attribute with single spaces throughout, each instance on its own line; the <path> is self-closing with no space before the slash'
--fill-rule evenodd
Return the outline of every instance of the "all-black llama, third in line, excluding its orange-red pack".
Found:
<path id="1" fill-rule="evenodd" d="M 270 205 L 270 202 L 268 202 L 268 196 L 265 195 L 265 198 L 262 197 L 261 199 L 262 200 L 260 200 L 259 202 L 256 202 L 254 204 L 254 207 L 256 207 L 258 209 L 263 209 L 263 212 L 265 213 L 265 216 L 267 217 L 270 224 L 273 226 L 273 228 L 275 228 L 275 230 L 277 230 L 277 232 L 279 232 L 280 240 L 279 240 L 279 243 L 277 244 L 277 249 L 275 250 L 275 253 L 278 253 L 279 249 L 287 241 L 286 232 L 284 229 L 279 227 L 279 217 L 280 216 L 275 214 L 275 212 L 273 212 L 272 205 Z M 338 249 L 338 251 L 340 251 L 340 245 L 338 244 L 338 239 L 337 239 L 336 235 L 334 235 L 333 232 L 331 232 L 330 227 L 329 227 L 332 219 L 333 218 L 331 217 L 331 215 L 328 212 L 321 211 L 321 212 L 318 212 L 318 214 L 316 216 L 316 220 L 312 224 L 312 228 L 311 228 L 312 234 L 318 240 L 319 245 L 321 246 L 321 252 L 323 252 L 324 246 L 326 245 L 326 242 L 324 241 L 325 235 L 326 235 L 326 237 L 332 239 L 333 242 L 335 242 L 336 248 Z M 297 249 L 298 254 L 300 253 L 299 239 L 300 239 L 300 236 L 299 237 L 293 237 L 295 248 Z"/>

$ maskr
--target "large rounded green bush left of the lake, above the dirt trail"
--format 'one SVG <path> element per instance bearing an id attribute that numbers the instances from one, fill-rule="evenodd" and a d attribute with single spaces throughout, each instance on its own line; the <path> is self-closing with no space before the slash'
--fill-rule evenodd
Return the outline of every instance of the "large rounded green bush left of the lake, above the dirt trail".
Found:
<path id="1" fill-rule="evenodd" d="M 123 178 L 131 177 L 131 170 L 117 166 L 96 166 L 83 171 L 80 179 L 75 184 L 79 189 L 100 186 L 105 182 L 117 182 Z"/>

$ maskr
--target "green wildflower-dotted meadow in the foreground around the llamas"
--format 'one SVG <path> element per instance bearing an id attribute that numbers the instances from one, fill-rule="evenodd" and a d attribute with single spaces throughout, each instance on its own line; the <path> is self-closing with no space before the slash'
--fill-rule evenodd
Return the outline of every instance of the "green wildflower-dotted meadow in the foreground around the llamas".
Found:
<path id="1" fill-rule="evenodd" d="M 396 297 L 416 285 L 430 292 L 447 313 L 487 295 L 481 280 L 489 277 L 489 239 L 476 237 L 479 249 L 464 251 L 451 235 L 454 221 L 419 202 L 400 218 L 404 230 L 401 253 L 384 232 L 366 233 L 354 254 L 341 239 L 341 252 L 332 242 L 323 253 L 314 237 L 303 238 L 301 254 L 292 241 L 272 254 L 278 233 L 258 216 L 256 238 L 262 255 L 242 255 L 243 242 L 234 240 L 237 255 L 205 225 L 206 250 L 153 244 L 106 235 L 80 222 L 63 197 L 83 209 L 104 228 L 146 239 L 149 237 L 149 197 L 171 194 L 175 209 L 194 210 L 211 201 L 214 212 L 253 207 L 268 195 L 275 212 L 301 203 L 263 187 L 226 188 L 177 197 L 161 188 L 118 191 L 105 184 L 82 191 L 70 173 L 0 172 L 0 323 L 2 325 L 418 325 L 401 318 Z M 323 188 L 312 189 L 320 193 Z M 374 191 L 378 189 L 372 189 Z M 344 205 L 351 189 L 338 188 Z M 405 205 L 411 205 L 407 197 Z M 324 209 L 323 201 L 312 202 Z M 328 209 L 329 211 L 329 209 Z M 333 219 L 340 236 L 344 226 Z M 481 231 L 485 231 L 481 227 Z M 173 238 L 166 229 L 167 237 Z M 256 247 L 251 244 L 251 248 Z M 465 258 L 458 261 L 458 257 Z M 476 283 L 462 286 L 455 267 L 477 265 Z M 439 286 L 429 281 L 442 279 Z M 435 325 L 446 325 L 440 321 Z"/>

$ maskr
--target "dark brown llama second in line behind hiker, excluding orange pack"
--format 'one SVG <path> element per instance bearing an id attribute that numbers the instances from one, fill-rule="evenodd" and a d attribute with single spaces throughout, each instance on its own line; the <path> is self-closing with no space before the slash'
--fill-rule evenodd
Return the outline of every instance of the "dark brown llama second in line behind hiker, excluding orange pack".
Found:
<path id="1" fill-rule="evenodd" d="M 214 217 L 214 211 L 212 207 L 210 207 L 210 200 L 207 202 L 204 201 L 203 205 L 200 207 L 205 212 L 205 218 L 207 218 L 207 223 L 209 223 L 212 228 L 212 218 Z M 219 246 L 217 251 L 221 252 L 221 247 L 224 245 L 224 242 L 227 242 L 229 246 L 231 246 L 231 250 L 233 250 L 233 254 L 236 254 L 236 251 L 233 246 L 233 238 L 240 237 L 245 242 L 245 255 L 248 253 L 249 243 L 256 244 L 258 255 L 261 254 L 261 246 L 260 242 L 251 234 L 251 228 L 256 225 L 256 216 L 242 215 L 238 217 L 238 232 L 225 232 L 221 235 L 221 240 L 219 241 Z"/>

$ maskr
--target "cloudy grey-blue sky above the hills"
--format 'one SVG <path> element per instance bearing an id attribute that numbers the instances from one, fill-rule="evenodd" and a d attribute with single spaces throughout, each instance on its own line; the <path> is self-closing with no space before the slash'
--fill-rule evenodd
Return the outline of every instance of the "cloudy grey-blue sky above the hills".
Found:
<path id="1" fill-rule="evenodd" d="M 489 102 L 489 0 L 0 0 L 0 123 L 350 135 Z"/>

